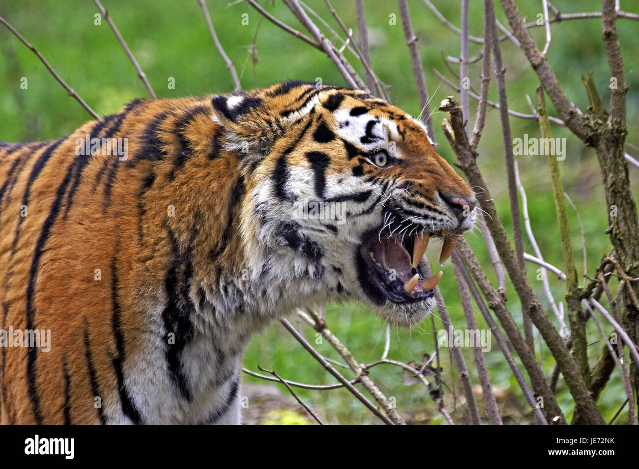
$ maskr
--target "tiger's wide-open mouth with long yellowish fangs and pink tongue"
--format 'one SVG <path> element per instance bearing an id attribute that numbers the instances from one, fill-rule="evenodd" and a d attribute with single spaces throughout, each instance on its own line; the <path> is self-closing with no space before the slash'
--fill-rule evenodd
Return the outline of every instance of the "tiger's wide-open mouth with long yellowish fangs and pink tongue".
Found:
<path id="1" fill-rule="evenodd" d="M 410 231 L 410 230 L 409 230 Z M 400 236 L 375 232 L 359 249 L 358 277 L 366 294 L 377 304 L 409 303 L 433 297 L 442 272 L 426 276 L 424 255 L 431 237 L 443 239 L 440 264 L 454 251 L 458 237 L 446 230 Z"/>

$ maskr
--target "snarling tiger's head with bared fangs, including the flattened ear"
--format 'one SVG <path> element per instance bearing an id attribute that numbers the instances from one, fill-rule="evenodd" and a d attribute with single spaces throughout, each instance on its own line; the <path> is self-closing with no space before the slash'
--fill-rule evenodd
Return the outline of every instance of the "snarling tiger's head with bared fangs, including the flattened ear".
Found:
<path id="1" fill-rule="evenodd" d="M 246 195 L 240 233 L 249 282 L 286 306 L 358 299 L 394 325 L 435 306 L 427 275 L 475 223 L 477 200 L 422 124 L 362 91 L 303 82 L 214 96 Z M 275 301 L 275 303 L 277 303 Z"/>

